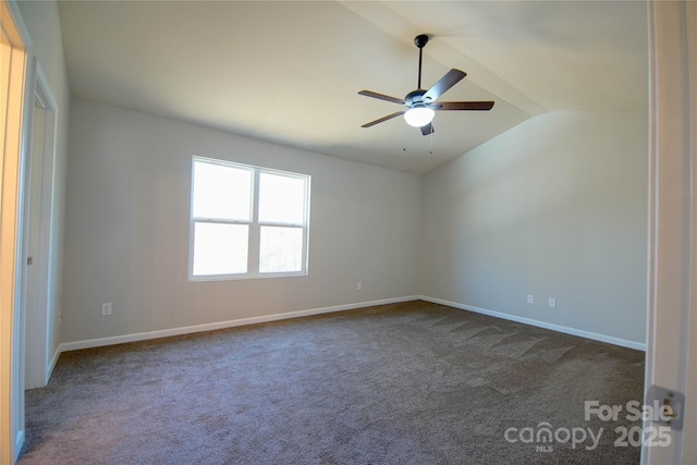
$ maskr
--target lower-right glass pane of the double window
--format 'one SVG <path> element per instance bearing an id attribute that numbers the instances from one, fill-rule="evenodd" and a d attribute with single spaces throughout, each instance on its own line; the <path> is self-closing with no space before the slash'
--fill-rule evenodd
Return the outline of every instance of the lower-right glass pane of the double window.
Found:
<path id="1" fill-rule="evenodd" d="M 259 272 L 302 271 L 303 229 L 261 227 Z"/>

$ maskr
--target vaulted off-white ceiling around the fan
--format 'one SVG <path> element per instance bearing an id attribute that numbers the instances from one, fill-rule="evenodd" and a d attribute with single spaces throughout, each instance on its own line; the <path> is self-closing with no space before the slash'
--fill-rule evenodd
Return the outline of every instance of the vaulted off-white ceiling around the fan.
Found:
<path id="1" fill-rule="evenodd" d="M 73 97 L 411 173 L 427 173 L 548 111 L 648 108 L 643 1 L 59 1 Z M 431 136 L 401 107 L 467 77 Z M 432 154 L 430 152 L 432 151 Z"/>

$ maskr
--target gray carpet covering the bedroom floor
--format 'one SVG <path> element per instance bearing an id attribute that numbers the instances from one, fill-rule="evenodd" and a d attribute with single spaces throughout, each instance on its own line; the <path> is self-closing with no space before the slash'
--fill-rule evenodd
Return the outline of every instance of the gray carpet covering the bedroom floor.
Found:
<path id="1" fill-rule="evenodd" d="M 613 444 L 632 424 L 585 421 L 584 401 L 641 401 L 643 379 L 643 352 L 382 305 L 63 353 L 27 391 L 20 464 L 636 464 Z M 543 421 L 604 431 L 504 439 Z"/>

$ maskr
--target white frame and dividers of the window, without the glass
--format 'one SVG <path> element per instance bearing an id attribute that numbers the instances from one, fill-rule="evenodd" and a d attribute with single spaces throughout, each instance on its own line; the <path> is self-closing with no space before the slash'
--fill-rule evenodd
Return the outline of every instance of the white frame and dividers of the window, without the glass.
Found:
<path id="1" fill-rule="evenodd" d="M 194 164 L 196 162 L 219 164 L 222 167 L 231 167 L 253 172 L 252 176 L 252 220 L 221 220 L 211 218 L 194 217 Z M 302 223 L 276 223 L 268 221 L 259 221 L 259 179 L 262 173 L 282 175 L 286 178 L 296 178 L 305 182 L 305 197 Z M 310 181 L 309 174 L 293 173 L 290 171 L 274 170 L 270 168 L 256 167 L 252 164 L 237 163 L 228 160 L 220 160 L 200 156 L 192 157 L 191 171 L 191 194 L 189 194 L 189 229 L 188 229 L 188 281 L 225 281 L 225 280 L 244 280 L 244 279 L 265 279 L 265 278 L 285 278 L 285 277 L 303 277 L 308 274 L 309 261 L 309 200 L 310 200 Z M 213 223 L 213 224 L 247 224 L 249 227 L 248 245 L 247 245 L 247 272 L 244 273 L 227 273 L 227 274 L 194 274 L 194 232 L 196 223 Z M 293 228 L 303 230 L 303 252 L 299 271 L 282 271 L 282 272 L 259 272 L 259 254 L 261 227 Z"/>

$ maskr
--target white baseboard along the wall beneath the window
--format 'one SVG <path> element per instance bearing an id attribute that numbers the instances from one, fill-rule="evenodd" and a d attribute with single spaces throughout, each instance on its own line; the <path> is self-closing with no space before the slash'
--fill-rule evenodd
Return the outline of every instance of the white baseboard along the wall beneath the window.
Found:
<path id="1" fill-rule="evenodd" d="M 122 344 L 124 342 L 146 341 L 149 339 L 167 338 L 171 335 L 191 334 L 201 331 L 234 328 L 245 325 L 262 323 L 269 321 L 285 320 L 290 318 L 307 317 L 311 315 L 330 314 L 332 311 L 353 310 L 355 308 L 371 307 L 374 305 L 395 304 L 399 302 L 417 301 L 418 296 L 384 298 L 381 301 L 358 302 L 354 304 L 334 305 L 331 307 L 313 308 L 309 310 L 288 311 L 284 314 L 264 315 L 259 317 L 241 318 L 236 320 L 219 321 L 213 323 L 195 325 L 181 328 L 164 329 L 158 331 L 137 332 L 132 334 L 114 335 L 109 338 L 88 339 L 84 341 L 64 342 L 59 345 L 58 354 L 80 348 L 101 347 L 105 345 Z M 56 356 L 58 359 L 58 356 Z M 53 364 L 56 362 L 53 360 Z"/>

